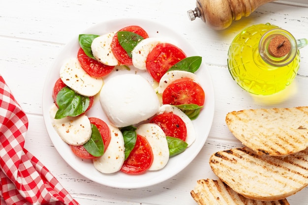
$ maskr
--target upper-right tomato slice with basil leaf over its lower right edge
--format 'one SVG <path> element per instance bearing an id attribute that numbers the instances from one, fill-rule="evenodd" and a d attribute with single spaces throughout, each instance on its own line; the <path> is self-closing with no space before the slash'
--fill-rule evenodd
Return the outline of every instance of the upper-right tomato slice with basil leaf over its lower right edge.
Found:
<path id="1" fill-rule="evenodd" d="M 169 68 L 185 58 L 185 53 L 175 45 L 158 43 L 147 57 L 147 70 L 154 80 L 159 82 Z"/>

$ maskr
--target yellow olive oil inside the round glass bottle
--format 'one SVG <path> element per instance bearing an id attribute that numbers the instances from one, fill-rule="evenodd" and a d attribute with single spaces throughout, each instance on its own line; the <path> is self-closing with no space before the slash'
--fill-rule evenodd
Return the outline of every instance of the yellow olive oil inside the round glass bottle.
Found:
<path id="1" fill-rule="evenodd" d="M 299 69 L 300 55 L 295 39 L 295 48 L 292 48 L 291 43 L 293 51 L 288 57 L 270 57 L 271 62 L 264 59 L 264 56 L 270 55 L 266 50 L 260 51 L 262 46 L 268 46 L 268 42 L 261 42 L 261 38 L 272 29 L 278 27 L 269 23 L 248 27 L 234 38 L 229 48 L 230 74 L 239 86 L 253 94 L 270 95 L 283 90 L 291 84 Z M 286 58 L 289 61 L 281 63 Z"/>

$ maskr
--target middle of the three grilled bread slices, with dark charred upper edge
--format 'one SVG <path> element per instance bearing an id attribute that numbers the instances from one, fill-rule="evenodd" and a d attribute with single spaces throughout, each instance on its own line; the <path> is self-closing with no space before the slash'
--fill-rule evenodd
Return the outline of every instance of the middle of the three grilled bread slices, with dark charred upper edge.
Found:
<path id="1" fill-rule="evenodd" d="M 214 153 L 210 166 L 234 191 L 255 200 L 284 199 L 308 185 L 308 148 L 286 156 L 233 148 Z"/>

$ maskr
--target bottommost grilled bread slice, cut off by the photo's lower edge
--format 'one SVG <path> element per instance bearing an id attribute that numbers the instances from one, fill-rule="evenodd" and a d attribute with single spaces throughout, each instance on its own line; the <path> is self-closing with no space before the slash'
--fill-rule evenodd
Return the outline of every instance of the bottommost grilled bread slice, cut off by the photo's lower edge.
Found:
<path id="1" fill-rule="evenodd" d="M 289 205 L 286 199 L 271 202 L 248 199 L 220 179 L 200 179 L 190 194 L 198 205 Z"/>

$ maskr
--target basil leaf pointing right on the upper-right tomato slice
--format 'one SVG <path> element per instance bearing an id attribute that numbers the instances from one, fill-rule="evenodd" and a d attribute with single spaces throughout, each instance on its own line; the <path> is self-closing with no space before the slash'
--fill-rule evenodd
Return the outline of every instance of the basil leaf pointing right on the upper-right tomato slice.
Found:
<path id="1" fill-rule="evenodd" d="M 184 70 L 194 73 L 199 69 L 201 62 L 202 62 L 202 57 L 200 56 L 187 57 L 174 64 L 171 68 L 169 68 L 168 71 Z"/>

